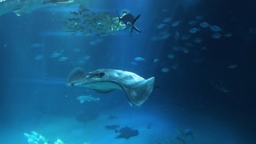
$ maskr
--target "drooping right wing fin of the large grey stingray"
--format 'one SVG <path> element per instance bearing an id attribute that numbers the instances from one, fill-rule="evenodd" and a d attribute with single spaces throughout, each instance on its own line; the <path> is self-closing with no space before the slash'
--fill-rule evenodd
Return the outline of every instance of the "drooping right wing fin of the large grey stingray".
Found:
<path id="1" fill-rule="evenodd" d="M 155 77 L 151 77 L 148 80 L 136 82 L 131 86 L 123 86 L 127 97 L 133 105 L 141 105 L 146 101 L 152 93 L 155 85 Z"/>

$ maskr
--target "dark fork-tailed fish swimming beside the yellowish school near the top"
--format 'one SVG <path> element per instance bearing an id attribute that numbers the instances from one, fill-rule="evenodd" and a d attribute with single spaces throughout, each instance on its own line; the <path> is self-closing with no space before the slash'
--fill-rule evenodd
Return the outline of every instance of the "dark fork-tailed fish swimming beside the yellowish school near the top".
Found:
<path id="1" fill-rule="evenodd" d="M 118 13 L 118 11 L 117 11 L 117 13 Z M 141 16 L 141 15 L 138 15 L 135 18 L 134 15 L 124 12 L 124 15 L 122 15 L 121 17 L 118 15 L 118 19 L 119 19 L 118 26 L 121 21 L 126 25 L 125 29 L 127 29 L 127 28 L 129 29 L 130 35 L 133 32 L 133 29 L 135 29 L 137 32 L 141 33 L 141 31 L 139 31 L 139 29 L 135 26 L 135 22 L 138 20 L 139 16 Z"/>

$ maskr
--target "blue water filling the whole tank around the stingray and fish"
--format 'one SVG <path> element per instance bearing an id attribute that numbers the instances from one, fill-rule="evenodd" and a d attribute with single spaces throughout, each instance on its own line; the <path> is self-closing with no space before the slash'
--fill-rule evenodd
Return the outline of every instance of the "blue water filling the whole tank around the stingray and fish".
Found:
<path id="1" fill-rule="evenodd" d="M 58 139 L 67 144 L 255 143 L 253 2 L 92 0 L 88 9 L 96 14 L 107 11 L 116 16 L 117 9 L 127 9 L 141 15 L 135 24 L 142 33 L 134 31 L 132 37 L 127 29 L 102 37 L 65 32 L 62 22 L 78 7 L 55 5 L 21 16 L 11 11 L 0 15 L 1 143 L 45 142 L 29 142 L 24 133 L 31 135 L 31 131 L 48 143 Z M 203 18 L 197 20 L 196 16 Z M 166 17 L 172 20 L 163 22 Z M 192 20 L 199 23 L 189 25 Z M 172 26 L 175 21 L 180 21 L 178 26 Z M 202 28 L 201 22 L 222 31 Z M 158 28 L 160 23 L 166 26 Z M 199 31 L 189 33 L 191 28 Z M 162 32 L 170 35 L 156 40 Z M 222 36 L 215 39 L 213 33 Z M 227 33 L 231 36 L 225 37 Z M 191 38 L 182 39 L 185 34 Z M 196 43 L 198 38 L 202 40 Z M 90 44 L 95 40 L 98 43 Z M 182 48 L 176 51 L 175 46 Z M 51 58 L 54 52 L 61 56 Z M 38 55 L 42 59 L 35 59 Z M 68 59 L 60 62 L 62 56 Z M 145 61 L 135 61 L 135 57 Z M 154 63 L 154 59 L 159 61 Z M 77 67 L 86 72 L 131 71 L 144 79 L 154 76 L 156 87 L 144 104 L 131 106 L 118 89 L 102 94 L 90 88 L 66 87 L 69 73 Z M 100 101 L 80 104 L 80 95 Z M 104 128 L 113 124 L 137 129 L 139 134 L 128 140 L 115 139 L 119 134 Z M 188 136 L 182 134 L 186 129 L 192 131 Z"/>

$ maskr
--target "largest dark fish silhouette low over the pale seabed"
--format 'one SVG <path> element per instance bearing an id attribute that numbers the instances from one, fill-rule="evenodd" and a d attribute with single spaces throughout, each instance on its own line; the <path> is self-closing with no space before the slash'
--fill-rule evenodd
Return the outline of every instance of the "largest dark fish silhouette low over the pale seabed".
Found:
<path id="1" fill-rule="evenodd" d="M 115 139 L 130 139 L 132 136 L 137 136 L 138 135 L 138 130 L 132 130 L 129 127 L 123 127 L 120 130 L 115 130 L 115 133 L 120 133 Z"/>

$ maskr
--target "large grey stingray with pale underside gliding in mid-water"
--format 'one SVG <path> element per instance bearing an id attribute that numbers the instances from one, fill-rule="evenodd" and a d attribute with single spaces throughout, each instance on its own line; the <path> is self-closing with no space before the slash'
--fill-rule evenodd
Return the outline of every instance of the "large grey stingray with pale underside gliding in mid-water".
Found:
<path id="1" fill-rule="evenodd" d="M 131 104 L 141 105 L 152 93 L 154 83 L 155 77 L 146 80 L 129 71 L 98 69 L 85 73 L 82 68 L 75 68 L 69 74 L 66 86 L 88 87 L 100 93 L 121 89 L 126 93 Z"/>

